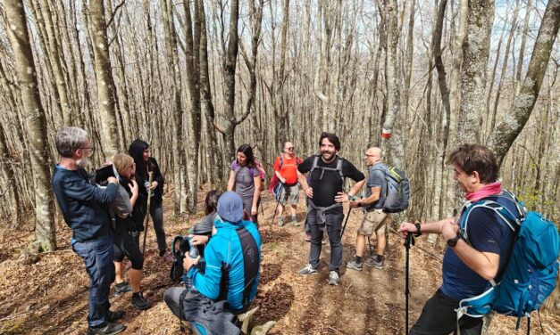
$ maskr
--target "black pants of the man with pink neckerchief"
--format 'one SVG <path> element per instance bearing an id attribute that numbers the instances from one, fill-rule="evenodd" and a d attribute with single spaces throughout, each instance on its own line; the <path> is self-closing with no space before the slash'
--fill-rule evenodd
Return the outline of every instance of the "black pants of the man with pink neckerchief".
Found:
<path id="1" fill-rule="evenodd" d="M 409 335 L 448 335 L 457 333 L 456 308 L 459 302 L 447 298 L 441 290 L 426 301 L 422 314 L 414 323 Z M 482 318 L 463 315 L 459 319 L 461 335 L 480 335 L 482 331 Z"/>

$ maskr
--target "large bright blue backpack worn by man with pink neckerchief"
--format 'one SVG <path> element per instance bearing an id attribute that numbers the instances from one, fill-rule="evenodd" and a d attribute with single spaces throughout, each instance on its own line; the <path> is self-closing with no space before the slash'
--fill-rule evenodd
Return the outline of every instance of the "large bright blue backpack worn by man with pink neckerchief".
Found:
<path id="1" fill-rule="evenodd" d="M 537 212 L 527 212 L 510 192 L 500 202 L 514 201 L 517 215 L 495 200 L 483 199 L 469 203 L 460 221 L 461 234 L 468 242 L 466 226 L 473 208 L 489 208 L 496 212 L 513 230 L 514 244 L 506 255 L 506 265 L 497 275 L 499 282 L 490 281 L 489 290 L 459 302 L 457 317 L 481 317 L 492 310 L 499 314 L 517 316 L 516 329 L 522 317 L 531 321 L 531 312 L 538 310 L 556 287 L 560 238 L 556 225 Z M 530 328 L 528 326 L 528 332 Z"/>

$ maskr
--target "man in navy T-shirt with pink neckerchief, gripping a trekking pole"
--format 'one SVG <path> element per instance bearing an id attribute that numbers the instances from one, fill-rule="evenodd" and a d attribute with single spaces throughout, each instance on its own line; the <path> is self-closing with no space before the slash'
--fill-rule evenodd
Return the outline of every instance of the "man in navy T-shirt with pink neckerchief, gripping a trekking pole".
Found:
<path id="1" fill-rule="evenodd" d="M 502 192 L 501 183 L 497 181 L 499 167 L 488 148 L 480 144 L 463 144 L 449 154 L 447 164 L 453 165 L 453 179 L 470 203 L 492 200 L 519 217 L 515 200 L 508 192 Z M 405 236 L 409 233 L 417 236 L 440 233 L 449 247 L 443 257 L 443 282 L 423 306 L 422 315 L 409 332 L 411 335 L 454 331 L 473 335 L 482 331 L 481 317 L 463 315 L 457 318 L 459 301 L 479 296 L 489 289 L 491 280 L 500 281 L 497 275 L 503 274 L 514 233 L 504 218 L 490 208 L 463 209 L 458 218 L 448 217 L 422 225 L 404 222 L 398 229 Z M 464 223 L 464 230 L 459 229 L 460 223 Z M 468 242 L 465 240 L 467 236 Z"/>

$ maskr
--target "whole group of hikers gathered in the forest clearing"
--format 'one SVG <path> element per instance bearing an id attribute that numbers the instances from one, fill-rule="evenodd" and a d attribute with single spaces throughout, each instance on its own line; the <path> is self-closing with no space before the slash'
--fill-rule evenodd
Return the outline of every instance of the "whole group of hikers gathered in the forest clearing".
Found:
<path id="1" fill-rule="evenodd" d="M 132 291 L 131 304 L 146 309 L 151 303 L 140 288 L 144 255 L 140 251 L 139 232 L 148 211 L 152 217 L 159 256 L 170 261 L 163 230 L 163 183 L 157 161 L 151 157 L 148 143 L 135 140 L 129 154 L 112 159 L 117 176 L 93 178 L 88 175 L 88 156 L 93 151 L 88 134 L 78 127 L 63 127 L 55 138 L 61 159 L 54 168 L 53 189 L 64 220 L 72 230 L 72 249 L 82 257 L 89 275 L 89 334 L 116 334 L 124 330 L 115 323 L 124 311 L 111 311 L 110 284 L 115 294 Z M 297 157 L 292 143 L 284 143 L 283 152 L 274 162 L 276 200 L 280 207 L 277 225 L 299 225 L 297 202 L 301 187 L 306 199 L 305 240 L 310 242 L 308 264 L 301 275 L 318 274 L 324 236 L 330 244 L 328 283 L 339 285 L 343 249 L 341 232 L 342 204 L 362 208 L 364 218 L 355 238 L 355 257 L 348 269 L 362 271 L 363 266 L 382 269 L 385 264 L 386 232 L 389 213 L 384 210 L 388 195 L 388 166 L 378 147 L 364 152 L 369 167 L 366 178 L 355 165 L 339 156 L 339 137 L 322 133 L 319 154 L 306 159 Z M 454 179 L 472 203 L 491 198 L 522 216 L 510 193 L 498 182 L 494 154 L 479 144 L 463 144 L 452 151 L 447 164 L 454 167 Z M 345 179 L 355 183 L 344 192 Z M 100 183 L 101 182 L 101 183 Z M 163 300 L 181 320 L 188 320 L 198 333 L 239 333 L 236 315 L 246 312 L 255 299 L 261 264 L 261 238 L 258 232 L 258 207 L 263 184 L 263 169 L 255 160 L 250 145 L 239 146 L 230 166 L 227 192 L 208 192 L 205 218 L 186 236 L 190 249 L 182 266 L 182 287 L 171 287 Z M 100 187 L 97 184 L 104 184 Z M 357 197 L 365 184 L 365 194 Z M 273 185 L 272 185 L 273 186 Z M 149 201 L 147 197 L 150 197 Z M 149 207 L 147 203 L 150 202 Z M 288 219 L 288 206 L 290 219 Z M 110 210 L 108 211 L 107 208 Z M 480 317 L 462 315 L 456 310 L 465 298 L 480 295 L 497 280 L 506 266 L 505 255 L 514 243 L 514 233 L 504 217 L 489 208 L 472 208 L 468 225 L 464 211 L 457 217 L 420 224 L 404 222 L 398 231 L 419 236 L 439 233 L 447 241 L 443 260 L 443 283 L 422 308 L 422 315 L 410 334 L 480 334 Z M 366 238 L 375 233 L 376 254 L 364 259 Z M 465 238 L 468 236 L 468 241 Z M 130 260 L 129 282 L 123 280 L 123 259 Z"/>

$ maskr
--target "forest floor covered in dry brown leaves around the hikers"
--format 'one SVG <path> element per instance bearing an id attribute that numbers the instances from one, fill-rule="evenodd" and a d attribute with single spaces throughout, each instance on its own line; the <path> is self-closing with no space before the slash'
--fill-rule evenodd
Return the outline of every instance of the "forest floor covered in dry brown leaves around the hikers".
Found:
<path id="1" fill-rule="evenodd" d="M 164 200 L 167 240 L 187 232 L 202 213 L 189 218 L 172 217 L 171 197 Z M 303 195 L 303 193 L 300 193 Z M 198 199 L 204 199 L 201 192 Z M 297 218 L 305 219 L 305 200 L 300 196 Z M 322 249 L 320 274 L 300 276 L 297 271 L 307 264 L 309 243 L 304 241 L 303 225 L 272 225 L 276 202 L 263 194 L 264 215 L 260 215 L 263 240 L 261 281 L 253 306 L 259 306 L 255 323 L 276 321 L 270 334 L 405 334 L 405 248 L 397 234 L 389 234 L 389 250 L 383 270 L 364 267 L 356 272 L 341 266 L 339 286 L 327 284 L 330 248 Z M 199 206 L 202 208 L 202 206 Z M 259 209 L 260 211 L 260 209 Z M 345 213 L 347 207 L 345 206 Z M 355 231 L 363 214 L 351 212 L 343 238 L 344 262 L 355 252 Z M 70 229 L 57 225 L 59 249 L 41 255 L 38 263 L 24 265 L 20 250 L 33 233 L 13 231 L 3 225 L 0 232 L 0 334 L 83 334 L 88 323 L 88 275 L 81 259 L 71 251 Z M 179 323 L 163 302 L 163 292 L 173 286 L 170 266 L 157 257 L 155 233 L 147 236 L 145 297 L 153 306 L 138 311 L 130 306 L 130 293 L 110 296 L 112 309 L 122 308 L 127 326 L 123 334 L 180 334 Z M 374 243 L 374 241 L 372 240 Z M 426 299 L 441 282 L 442 246 L 433 247 L 421 238 L 410 250 L 410 324 Z M 113 292 L 113 290 L 112 290 Z M 532 329 L 541 333 L 534 315 Z M 560 316 L 541 313 L 546 334 L 560 331 Z M 524 334 L 525 321 L 519 331 Z M 515 319 L 497 316 L 489 334 L 515 333 Z"/>

